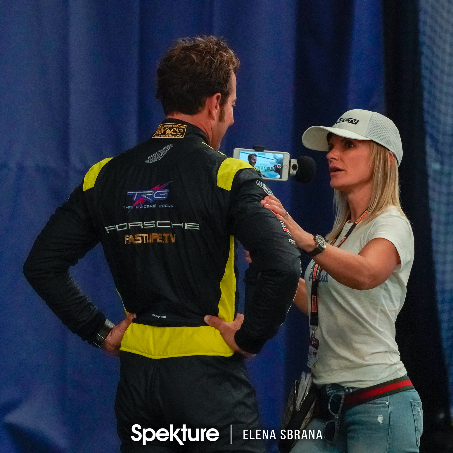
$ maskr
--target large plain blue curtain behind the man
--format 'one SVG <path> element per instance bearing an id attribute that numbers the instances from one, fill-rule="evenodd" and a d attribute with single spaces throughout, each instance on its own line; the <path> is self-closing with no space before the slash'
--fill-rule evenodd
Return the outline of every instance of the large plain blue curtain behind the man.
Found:
<path id="1" fill-rule="evenodd" d="M 174 39 L 199 34 L 226 37 L 241 59 L 223 152 L 262 144 L 316 159 L 307 186 L 271 185 L 310 232 L 330 229 L 332 191 L 327 159 L 303 149 L 303 131 L 332 125 L 350 108 L 385 113 L 379 0 L 1 2 L 3 453 L 118 451 L 117 360 L 70 333 L 24 280 L 22 265 L 92 164 L 154 132 L 163 119 L 156 64 Z M 108 318 L 123 318 L 99 246 L 72 275 Z M 304 368 L 306 323 L 291 309 L 277 337 L 248 361 L 265 429 L 280 428 L 289 382 Z"/>

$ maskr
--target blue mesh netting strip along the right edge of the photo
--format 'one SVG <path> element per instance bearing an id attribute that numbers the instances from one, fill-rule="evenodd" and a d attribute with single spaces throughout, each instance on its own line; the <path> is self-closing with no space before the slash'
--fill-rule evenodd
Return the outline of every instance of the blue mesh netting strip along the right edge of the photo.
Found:
<path id="1" fill-rule="evenodd" d="M 426 165 L 436 293 L 445 362 L 453 391 L 453 5 L 420 0 Z M 453 406 L 450 408 L 453 414 Z"/>

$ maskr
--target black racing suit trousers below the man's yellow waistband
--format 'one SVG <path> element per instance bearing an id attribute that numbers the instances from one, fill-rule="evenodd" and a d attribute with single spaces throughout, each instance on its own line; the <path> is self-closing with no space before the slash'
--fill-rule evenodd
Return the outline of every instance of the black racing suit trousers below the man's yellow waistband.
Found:
<path id="1" fill-rule="evenodd" d="M 244 429 L 261 429 L 261 425 L 255 390 L 238 355 L 150 359 L 121 351 L 120 363 L 115 413 L 121 453 L 265 452 L 263 440 L 243 439 Z M 140 428 L 133 432 L 136 424 Z M 189 433 L 184 433 L 183 441 L 183 425 L 191 429 L 192 439 L 197 439 L 199 429 L 198 441 L 189 440 Z M 146 438 L 154 439 L 144 445 L 143 429 L 148 428 L 156 436 L 149 430 Z M 184 445 L 175 437 L 164 440 L 164 431 L 157 435 L 162 428 L 169 434 L 180 429 L 176 436 Z M 210 428 L 217 429 L 217 440 L 207 439 Z M 210 437 L 215 439 L 215 434 Z"/>

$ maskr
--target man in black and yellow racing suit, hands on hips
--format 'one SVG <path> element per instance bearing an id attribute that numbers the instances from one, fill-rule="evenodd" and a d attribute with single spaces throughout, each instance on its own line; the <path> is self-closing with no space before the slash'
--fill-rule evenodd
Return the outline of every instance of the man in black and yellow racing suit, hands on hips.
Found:
<path id="1" fill-rule="evenodd" d="M 215 54 L 226 43 L 178 45 Z M 73 333 L 119 353 L 122 452 L 265 451 L 262 440 L 243 439 L 244 429 L 260 429 L 243 356 L 260 352 L 284 322 L 300 261 L 260 204 L 270 189 L 251 165 L 214 149 L 232 123 L 236 68 L 226 95 L 207 96 L 192 115 L 163 101 L 167 119 L 148 141 L 93 165 L 24 264 Z M 68 272 L 99 241 L 128 315 L 116 327 Z M 261 273 L 245 317 L 237 314 L 236 241 Z"/>

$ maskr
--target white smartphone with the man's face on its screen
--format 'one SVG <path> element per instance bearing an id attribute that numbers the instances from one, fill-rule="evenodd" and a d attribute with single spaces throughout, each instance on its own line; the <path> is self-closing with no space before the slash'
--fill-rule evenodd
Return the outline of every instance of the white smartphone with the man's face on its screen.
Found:
<path id="1" fill-rule="evenodd" d="M 254 149 L 235 148 L 233 157 L 251 164 L 260 172 L 263 179 L 288 181 L 289 153 L 266 150 L 258 152 Z"/>

